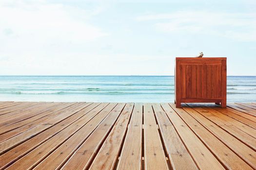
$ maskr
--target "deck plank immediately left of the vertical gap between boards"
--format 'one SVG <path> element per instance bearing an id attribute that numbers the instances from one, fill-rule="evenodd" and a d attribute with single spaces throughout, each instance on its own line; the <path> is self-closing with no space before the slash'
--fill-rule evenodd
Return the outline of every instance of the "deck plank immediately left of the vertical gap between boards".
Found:
<path id="1" fill-rule="evenodd" d="M 142 169 L 142 103 L 136 103 L 128 126 L 117 170 Z"/>

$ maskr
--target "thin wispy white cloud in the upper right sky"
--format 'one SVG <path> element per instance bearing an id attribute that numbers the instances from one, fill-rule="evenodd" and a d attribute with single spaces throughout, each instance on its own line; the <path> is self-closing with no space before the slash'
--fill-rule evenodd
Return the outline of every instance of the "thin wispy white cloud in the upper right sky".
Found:
<path id="1" fill-rule="evenodd" d="M 145 15 L 138 21 L 154 21 L 166 33 L 213 34 L 240 41 L 256 41 L 256 13 L 178 11 Z"/>

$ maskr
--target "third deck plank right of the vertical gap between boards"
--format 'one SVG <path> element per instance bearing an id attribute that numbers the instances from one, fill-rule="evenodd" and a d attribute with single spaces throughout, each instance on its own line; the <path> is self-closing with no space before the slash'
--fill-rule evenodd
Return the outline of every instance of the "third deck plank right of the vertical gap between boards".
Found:
<path id="1" fill-rule="evenodd" d="M 197 163 L 198 168 L 211 170 L 214 167 L 215 170 L 224 170 L 224 167 L 216 157 L 207 149 L 193 131 L 191 131 L 173 108 L 168 103 L 161 103 L 161 106 L 174 125 L 189 153 L 191 153 L 193 159 Z"/>

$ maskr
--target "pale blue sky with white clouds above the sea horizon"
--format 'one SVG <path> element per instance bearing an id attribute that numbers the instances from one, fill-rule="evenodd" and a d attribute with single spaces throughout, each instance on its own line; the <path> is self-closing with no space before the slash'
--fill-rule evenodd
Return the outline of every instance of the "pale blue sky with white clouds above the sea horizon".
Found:
<path id="1" fill-rule="evenodd" d="M 0 0 L 0 75 L 174 75 L 201 51 L 256 76 L 256 0 Z"/>

